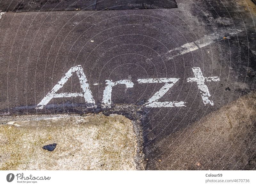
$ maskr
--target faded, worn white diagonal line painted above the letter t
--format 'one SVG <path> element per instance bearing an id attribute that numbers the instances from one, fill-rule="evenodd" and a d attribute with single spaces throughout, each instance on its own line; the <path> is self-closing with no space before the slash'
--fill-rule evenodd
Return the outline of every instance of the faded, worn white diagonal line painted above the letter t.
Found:
<path id="1" fill-rule="evenodd" d="M 244 31 L 244 30 L 240 30 L 240 29 L 233 30 L 232 29 L 232 31 L 230 33 L 228 33 L 228 35 L 229 36 L 236 35 L 237 33 L 242 32 L 242 31 Z M 223 37 L 225 35 L 227 35 L 227 32 L 228 32 L 227 30 L 214 32 L 213 34 L 205 35 L 204 37 L 202 37 L 199 40 L 196 40 L 195 42 L 185 43 L 180 47 L 169 50 L 166 53 L 166 55 L 168 56 L 167 59 L 173 59 L 177 56 L 181 56 L 183 54 L 186 54 L 186 53 L 195 51 L 197 49 L 203 48 L 205 46 L 208 46 L 212 43 L 215 43 L 216 41 L 223 40 Z M 228 36 L 226 38 L 228 38 Z M 171 57 L 170 57 L 170 55 L 171 55 Z"/>

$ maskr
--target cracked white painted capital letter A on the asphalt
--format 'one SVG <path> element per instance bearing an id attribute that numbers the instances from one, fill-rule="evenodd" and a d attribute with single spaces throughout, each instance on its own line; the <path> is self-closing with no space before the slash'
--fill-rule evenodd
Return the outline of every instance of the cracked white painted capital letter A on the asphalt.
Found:
<path id="1" fill-rule="evenodd" d="M 72 73 L 74 72 L 76 72 L 79 78 L 79 82 L 80 82 L 81 88 L 83 89 L 83 92 L 56 94 L 56 92 L 63 87 L 63 85 L 68 81 L 68 79 L 71 77 Z M 88 102 L 89 104 L 92 104 L 92 106 L 89 106 L 89 107 L 95 107 L 95 101 L 93 99 L 92 92 L 89 88 L 89 84 L 87 83 L 87 79 L 84 74 L 84 69 L 82 68 L 81 65 L 71 67 L 68 70 L 68 72 L 65 74 L 65 76 L 61 78 L 61 80 L 37 105 L 36 109 L 43 109 L 43 107 L 47 105 L 52 98 L 58 98 L 58 97 L 84 97 L 86 102 Z"/>

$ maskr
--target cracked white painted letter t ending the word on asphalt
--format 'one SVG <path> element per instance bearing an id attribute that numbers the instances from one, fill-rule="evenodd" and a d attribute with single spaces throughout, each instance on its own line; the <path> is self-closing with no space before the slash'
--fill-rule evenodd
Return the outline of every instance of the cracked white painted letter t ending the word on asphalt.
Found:
<path id="1" fill-rule="evenodd" d="M 220 78 L 215 77 L 204 77 L 201 69 L 199 67 L 192 68 L 195 75 L 194 78 L 188 78 L 188 82 L 196 82 L 198 89 L 200 90 L 204 105 L 210 104 L 213 105 L 213 102 L 209 100 L 210 92 L 208 87 L 204 84 L 205 81 L 220 81 Z"/>

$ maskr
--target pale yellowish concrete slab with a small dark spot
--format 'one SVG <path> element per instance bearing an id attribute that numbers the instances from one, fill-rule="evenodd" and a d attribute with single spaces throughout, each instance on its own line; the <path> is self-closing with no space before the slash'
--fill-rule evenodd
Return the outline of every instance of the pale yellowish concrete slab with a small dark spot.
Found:
<path id="1" fill-rule="evenodd" d="M 20 116 L 1 121 L 0 170 L 144 169 L 141 134 L 122 115 Z M 49 144 L 54 148 L 47 151 Z"/>

